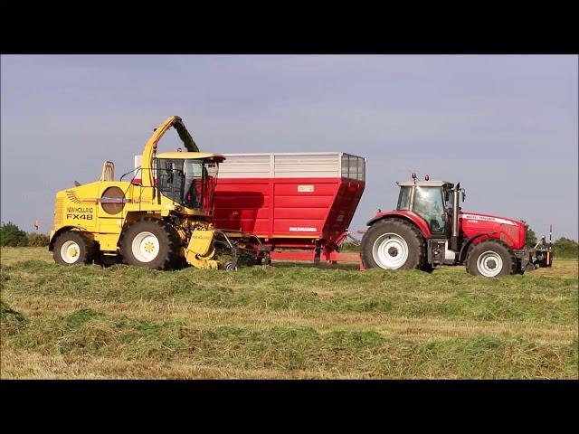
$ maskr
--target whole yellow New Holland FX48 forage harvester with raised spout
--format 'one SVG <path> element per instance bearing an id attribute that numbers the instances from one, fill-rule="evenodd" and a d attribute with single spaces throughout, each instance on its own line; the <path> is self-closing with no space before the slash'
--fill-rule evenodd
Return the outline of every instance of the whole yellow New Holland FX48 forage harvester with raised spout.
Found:
<path id="1" fill-rule="evenodd" d="M 157 154 L 157 144 L 175 127 L 186 152 Z M 199 152 L 181 118 L 172 116 L 154 130 L 130 181 L 114 180 L 105 162 L 100 180 L 56 194 L 49 250 L 57 263 L 123 261 L 151 269 L 236 269 L 268 259 L 252 234 L 214 229 L 209 221 L 219 154 Z M 228 260 L 223 260 L 223 258 Z"/>

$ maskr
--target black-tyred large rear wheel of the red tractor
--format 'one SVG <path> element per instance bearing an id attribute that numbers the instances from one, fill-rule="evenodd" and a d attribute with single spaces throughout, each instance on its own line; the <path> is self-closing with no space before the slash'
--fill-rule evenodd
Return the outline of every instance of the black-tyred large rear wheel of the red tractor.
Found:
<path id="1" fill-rule="evenodd" d="M 378 252 L 376 252 L 375 257 L 375 243 L 376 241 L 379 242 L 376 246 L 378 247 L 382 245 L 384 241 L 390 240 L 390 238 L 385 235 L 387 233 L 397 235 L 406 243 L 408 257 L 400 265 L 395 264 L 393 267 L 388 267 L 387 260 L 381 260 Z M 425 242 L 422 233 L 412 223 L 401 219 L 379 220 L 370 226 L 370 229 L 365 232 L 362 238 L 362 264 L 364 264 L 365 269 L 422 269 L 426 262 L 426 249 L 424 246 Z M 394 248 L 394 250 L 387 250 L 387 254 L 389 255 L 388 258 L 393 259 L 394 263 L 397 261 L 396 257 L 400 252 Z"/>

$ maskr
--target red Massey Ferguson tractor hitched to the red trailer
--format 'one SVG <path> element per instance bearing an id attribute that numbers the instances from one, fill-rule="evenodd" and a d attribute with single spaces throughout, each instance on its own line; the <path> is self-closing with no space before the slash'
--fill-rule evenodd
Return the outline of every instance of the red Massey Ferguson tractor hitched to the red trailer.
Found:
<path id="1" fill-rule="evenodd" d="M 476 276 L 493 278 L 523 274 L 550 267 L 550 246 L 535 249 L 536 260 L 526 246 L 523 222 L 462 212 L 460 183 L 413 181 L 400 186 L 398 204 L 392 212 L 377 212 L 362 239 L 362 263 L 366 269 L 423 269 L 465 264 Z M 536 246 L 537 247 L 537 246 Z"/>

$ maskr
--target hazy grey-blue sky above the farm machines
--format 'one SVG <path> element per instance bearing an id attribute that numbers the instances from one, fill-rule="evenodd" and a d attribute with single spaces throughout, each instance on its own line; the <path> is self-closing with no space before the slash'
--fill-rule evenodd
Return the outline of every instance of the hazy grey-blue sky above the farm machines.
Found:
<path id="1" fill-rule="evenodd" d="M 365 156 L 353 231 L 414 171 L 577 240 L 577 80 L 570 55 L 3 55 L 1 218 L 50 231 L 57 191 L 178 115 L 204 151 Z"/>

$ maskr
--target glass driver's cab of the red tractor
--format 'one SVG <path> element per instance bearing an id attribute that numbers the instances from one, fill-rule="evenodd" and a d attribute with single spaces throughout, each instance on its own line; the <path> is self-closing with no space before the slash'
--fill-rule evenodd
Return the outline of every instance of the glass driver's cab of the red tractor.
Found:
<path id="1" fill-rule="evenodd" d="M 408 181 L 400 186 L 396 211 L 417 213 L 434 236 L 451 235 L 454 184 L 447 181 Z"/>

